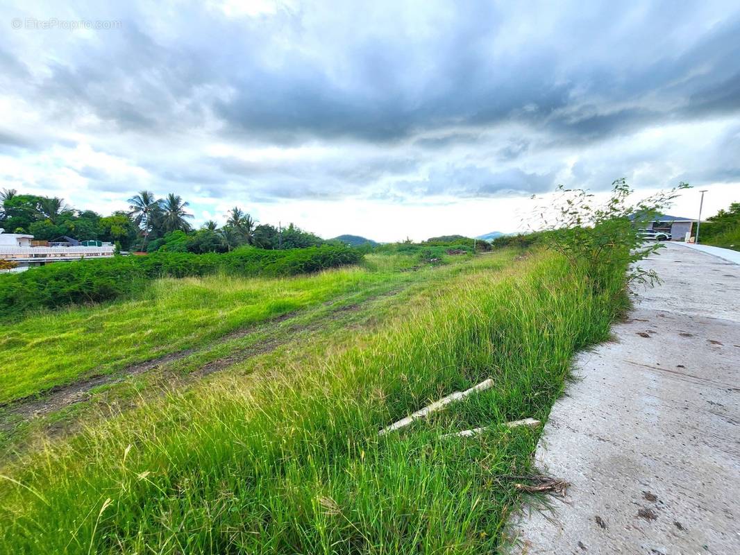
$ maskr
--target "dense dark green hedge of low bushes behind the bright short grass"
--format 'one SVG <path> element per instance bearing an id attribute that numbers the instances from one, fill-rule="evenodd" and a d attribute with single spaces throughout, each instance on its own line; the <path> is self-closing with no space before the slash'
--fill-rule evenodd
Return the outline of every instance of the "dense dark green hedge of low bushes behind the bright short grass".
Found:
<path id="1" fill-rule="evenodd" d="M 354 264 L 362 253 L 345 246 L 265 250 L 242 247 L 226 254 L 156 252 L 143 257 L 58 262 L 0 277 L 0 318 L 33 309 L 99 303 L 136 292 L 158 277 L 226 272 L 245 277 L 281 277 Z"/>

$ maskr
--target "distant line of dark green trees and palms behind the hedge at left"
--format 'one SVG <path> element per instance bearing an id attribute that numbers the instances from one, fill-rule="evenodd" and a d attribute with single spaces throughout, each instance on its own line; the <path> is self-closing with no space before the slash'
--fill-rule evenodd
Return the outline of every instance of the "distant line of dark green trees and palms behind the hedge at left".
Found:
<path id="1" fill-rule="evenodd" d="M 157 198 L 140 191 L 129 198 L 129 209 L 102 216 L 92 210 L 67 206 L 61 198 L 22 195 L 16 189 L 0 192 L 0 228 L 7 233 L 26 233 L 38 240 L 63 236 L 78 240 L 116 243 L 123 250 L 155 252 L 229 252 L 238 246 L 261 249 L 295 249 L 325 243 L 313 233 L 292 223 L 277 228 L 259 224 L 238 206 L 229 210 L 226 223 L 206 221 L 194 229 L 189 220 L 189 203 L 169 193 Z"/>

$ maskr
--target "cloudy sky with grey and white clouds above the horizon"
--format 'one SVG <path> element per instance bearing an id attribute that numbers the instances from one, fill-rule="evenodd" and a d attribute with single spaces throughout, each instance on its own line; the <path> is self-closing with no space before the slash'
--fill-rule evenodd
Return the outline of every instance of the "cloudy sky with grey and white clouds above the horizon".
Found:
<path id="1" fill-rule="evenodd" d="M 0 189 L 383 241 L 522 230 L 558 184 L 740 201 L 737 1 L 64 4 L 0 5 Z"/>

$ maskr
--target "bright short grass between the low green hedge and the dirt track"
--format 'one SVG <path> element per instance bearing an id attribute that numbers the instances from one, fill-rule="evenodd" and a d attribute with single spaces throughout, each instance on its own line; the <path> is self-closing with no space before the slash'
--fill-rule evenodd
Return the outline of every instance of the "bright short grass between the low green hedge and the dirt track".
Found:
<path id="1" fill-rule="evenodd" d="M 0 403 L 203 345 L 236 329 L 306 309 L 389 280 L 398 264 L 284 279 L 209 277 L 157 280 L 134 300 L 76 307 L 4 326 Z M 388 275 L 391 274 L 391 275 Z"/>

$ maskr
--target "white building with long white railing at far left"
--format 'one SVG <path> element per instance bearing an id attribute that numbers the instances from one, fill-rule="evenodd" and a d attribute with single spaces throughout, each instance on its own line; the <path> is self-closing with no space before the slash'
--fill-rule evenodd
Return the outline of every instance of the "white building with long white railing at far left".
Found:
<path id="1" fill-rule="evenodd" d="M 4 233 L 0 229 L 0 260 L 17 262 L 19 266 L 41 266 L 47 262 L 81 260 L 82 258 L 110 258 L 112 243 L 98 246 L 33 246 L 33 235 Z"/>

